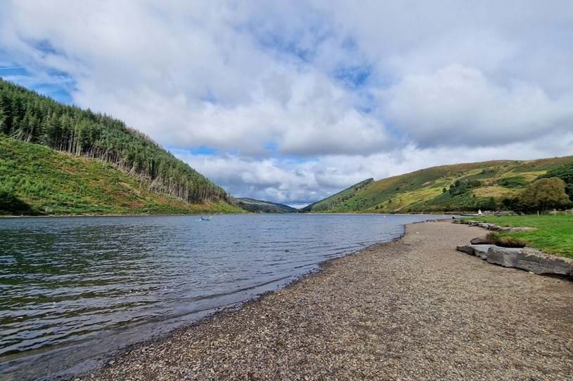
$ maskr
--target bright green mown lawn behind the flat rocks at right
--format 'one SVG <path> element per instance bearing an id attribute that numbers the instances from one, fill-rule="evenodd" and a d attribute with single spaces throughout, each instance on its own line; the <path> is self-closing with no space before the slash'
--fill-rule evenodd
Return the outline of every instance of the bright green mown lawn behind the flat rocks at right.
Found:
<path id="1" fill-rule="evenodd" d="M 546 253 L 573 258 L 573 214 L 569 215 L 515 215 L 508 217 L 472 218 L 499 226 L 536 227 L 532 232 L 502 233 L 527 241 L 528 246 Z"/>

